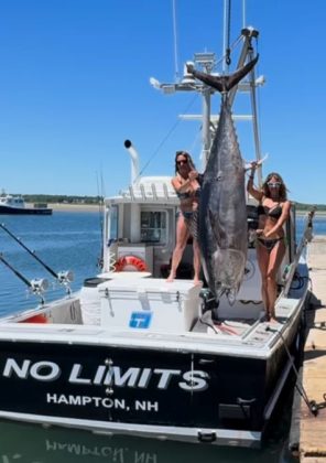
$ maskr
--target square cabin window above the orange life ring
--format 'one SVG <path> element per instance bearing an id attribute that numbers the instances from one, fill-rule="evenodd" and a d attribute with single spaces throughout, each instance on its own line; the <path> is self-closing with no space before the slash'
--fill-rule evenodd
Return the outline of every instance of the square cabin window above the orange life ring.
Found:
<path id="1" fill-rule="evenodd" d="M 166 212 L 142 211 L 141 212 L 141 241 L 152 244 L 166 243 Z"/>

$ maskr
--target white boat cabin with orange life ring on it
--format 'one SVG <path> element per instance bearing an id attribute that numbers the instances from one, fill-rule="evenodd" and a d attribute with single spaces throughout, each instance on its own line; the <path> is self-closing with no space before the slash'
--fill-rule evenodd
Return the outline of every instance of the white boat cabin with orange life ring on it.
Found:
<path id="1" fill-rule="evenodd" d="M 177 206 L 167 176 L 143 177 L 121 195 L 107 200 L 104 271 L 146 270 L 164 278 L 175 246 Z M 124 261 L 126 257 L 138 260 L 132 263 Z"/>

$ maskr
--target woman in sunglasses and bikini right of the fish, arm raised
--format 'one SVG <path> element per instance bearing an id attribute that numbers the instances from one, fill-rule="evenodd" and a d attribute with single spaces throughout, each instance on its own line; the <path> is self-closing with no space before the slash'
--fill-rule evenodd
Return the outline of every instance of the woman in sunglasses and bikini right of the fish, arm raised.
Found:
<path id="1" fill-rule="evenodd" d="M 253 186 L 257 162 L 251 164 L 247 191 L 259 201 L 257 229 L 257 259 L 262 279 L 262 300 L 267 319 L 274 322 L 275 300 L 278 295 L 276 274 L 285 255 L 283 225 L 290 215 L 291 202 L 286 197 L 286 187 L 275 172 L 268 175 L 261 190 Z"/>

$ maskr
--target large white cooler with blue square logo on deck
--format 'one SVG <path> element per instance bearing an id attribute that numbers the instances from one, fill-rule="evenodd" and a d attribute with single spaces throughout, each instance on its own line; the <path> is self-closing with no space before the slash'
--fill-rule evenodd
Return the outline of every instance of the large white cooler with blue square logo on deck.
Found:
<path id="1" fill-rule="evenodd" d="M 199 314 L 200 286 L 189 280 L 116 279 L 98 287 L 101 325 L 164 333 L 189 331 Z"/>

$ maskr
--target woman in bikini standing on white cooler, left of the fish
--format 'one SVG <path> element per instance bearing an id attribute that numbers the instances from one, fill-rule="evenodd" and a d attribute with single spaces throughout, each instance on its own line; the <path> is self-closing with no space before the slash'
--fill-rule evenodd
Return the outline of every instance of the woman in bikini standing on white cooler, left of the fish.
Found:
<path id="1" fill-rule="evenodd" d="M 191 154 L 186 151 L 176 151 L 175 176 L 172 185 L 180 198 L 180 214 L 176 223 L 176 245 L 172 255 L 170 276 L 166 281 L 173 281 L 176 269 L 181 262 L 188 237 L 193 237 L 194 249 L 194 283 L 199 283 L 200 252 L 198 246 L 198 202 L 199 174 Z"/>

